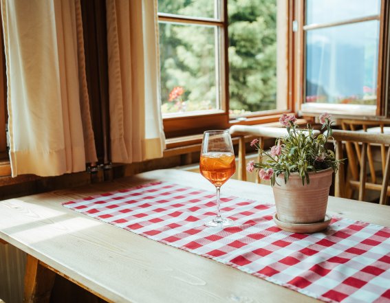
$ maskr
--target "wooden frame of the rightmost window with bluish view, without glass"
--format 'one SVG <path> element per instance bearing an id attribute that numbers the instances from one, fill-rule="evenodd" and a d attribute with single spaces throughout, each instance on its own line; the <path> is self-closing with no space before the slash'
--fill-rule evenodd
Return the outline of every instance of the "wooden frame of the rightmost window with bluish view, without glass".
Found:
<path id="1" fill-rule="evenodd" d="M 318 115 L 323 111 L 321 105 L 313 106 L 312 109 L 303 109 L 305 103 L 305 82 L 306 82 L 306 34 L 307 30 L 314 30 L 317 28 L 333 27 L 338 25 L 346 25 L 353 23 L 360 23 L 364 21 L 378 20 L 380 22 L 379 27 L 379 41 L 378 41 L 378 71 L 377 71 L 377 93 L 376 93 L 376 113 L 367 114 L 363 111 L 361 113 L 351 113 L 349 109 L 340 109 L 339 112 L 332 113 L 335 117 L 358 117 L 358 118 L 372 118 L 386 119 L 389 117 L 389 8 L 390 3 L 387 0 L 381 0 L 380 2 L 380 14 L 374 16 L 365 16 L 354 19 L 345 19 L 343 21 L 334 21 L 329 23 L 321 23 L 320 25 L 305 25 L 305 8 L 306 0 L 294 0 L 294 21 L 299 24 L 299 30 L 295 32 L 296 35 L 296 55 L 294 56 L 294 63 L 296 63 L 296 69 L 294 71 L 294 78 L 297 80 L 296 84 L 296 100 L 297 109 L 299 115 L 313 116 Z M 341 107 L 341 106 L 340 106 Z"/>

